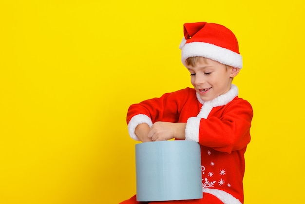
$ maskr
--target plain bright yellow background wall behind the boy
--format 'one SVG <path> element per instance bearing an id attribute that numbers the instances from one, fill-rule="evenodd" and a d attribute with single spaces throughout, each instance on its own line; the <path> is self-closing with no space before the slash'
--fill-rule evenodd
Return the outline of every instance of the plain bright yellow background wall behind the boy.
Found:
<path id="1" fill-rule="evenodd" d="M 253 106 L 245 204 L 304 202 L 304 3 L 0 1 L 0 204 L 117 204 L 135 193 L 130 104 L 191 86 L 183 23 L 224 24 Z"/>

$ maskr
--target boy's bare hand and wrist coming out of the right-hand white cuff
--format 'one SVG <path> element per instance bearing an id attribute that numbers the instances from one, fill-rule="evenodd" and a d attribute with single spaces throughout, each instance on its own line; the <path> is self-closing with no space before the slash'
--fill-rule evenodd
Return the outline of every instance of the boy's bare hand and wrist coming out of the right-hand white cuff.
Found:
<path id="1" fill-rule="evenodd" d="M 155 122 L 148 132 L 148 137 L 152 141 L 171 140 L 173 138 L 185 140 L 185 126 L 186 123 L 184 122 Z"/>

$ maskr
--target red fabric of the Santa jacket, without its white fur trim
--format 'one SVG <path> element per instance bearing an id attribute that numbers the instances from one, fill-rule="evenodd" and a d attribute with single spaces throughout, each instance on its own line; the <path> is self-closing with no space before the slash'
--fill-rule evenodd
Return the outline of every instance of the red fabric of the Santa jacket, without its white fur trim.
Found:
<path id="1" fill-rule="evenodd" d="M 186 88 L 131 105 L 127 122 L 138 114 L 149 116 L 152 123 L 187 122 L 197 116 L 201 107 L 196 91 Z M 235 97 L 226 105 L 212 108 L 199 126 L 203 187 L 223 190 L 241 203 L 244 202 L 244 153 L 250 142 L 252 116 L 251 105 Z"/>

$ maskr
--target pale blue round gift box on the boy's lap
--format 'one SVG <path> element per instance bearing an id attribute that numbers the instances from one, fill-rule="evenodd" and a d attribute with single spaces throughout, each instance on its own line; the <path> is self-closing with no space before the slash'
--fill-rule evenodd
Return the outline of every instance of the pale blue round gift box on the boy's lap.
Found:
<path id="1" fill-rule="evenodd" d="M 194 141 L 156 141 L 135 145 L 136 200 L 202 198 L 200 145 Z"/>

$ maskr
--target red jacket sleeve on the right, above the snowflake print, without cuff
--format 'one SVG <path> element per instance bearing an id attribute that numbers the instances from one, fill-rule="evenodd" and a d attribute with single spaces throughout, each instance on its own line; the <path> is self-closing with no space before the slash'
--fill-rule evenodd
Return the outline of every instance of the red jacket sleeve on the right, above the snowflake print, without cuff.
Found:
<path id="1" fill-rule="evenodd" d="M 200 120 L 199 143 L 217 151 L 230 153 L 250 142 L 253 110 L 249 102 L 237 99 L 229 102 L 218 113 L 210 113 Z"/>

